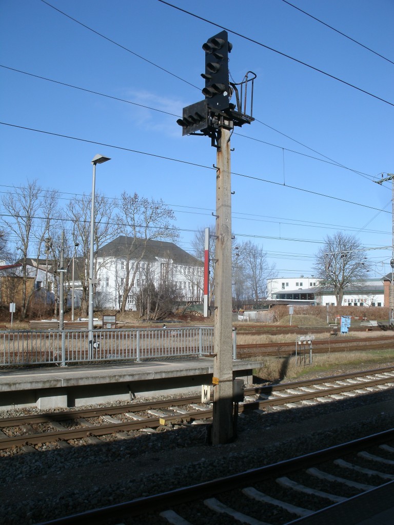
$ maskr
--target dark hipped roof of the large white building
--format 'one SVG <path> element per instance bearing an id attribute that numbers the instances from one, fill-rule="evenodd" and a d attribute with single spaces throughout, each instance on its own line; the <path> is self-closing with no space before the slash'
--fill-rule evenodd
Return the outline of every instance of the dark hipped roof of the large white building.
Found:
<path id="1" fill-rule="evenodd" d="M 145 250 L 144 250 L 145 248 Z M 145 240 L 122 235 L 97 251 L 98 258 L 114 257 L 126 259 L 129 254 L 131 259 L 154 261 L 157 258 L 171 259 L 175 264 L 188 266 L 202 266 L 202 262 L 190 255 L 174 243 L 164 240 Z"/>

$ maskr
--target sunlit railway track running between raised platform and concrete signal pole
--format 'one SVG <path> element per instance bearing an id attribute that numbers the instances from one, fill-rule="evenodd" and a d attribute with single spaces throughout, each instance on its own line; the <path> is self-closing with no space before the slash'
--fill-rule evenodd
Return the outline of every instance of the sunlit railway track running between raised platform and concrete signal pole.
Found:
<path id="1" fill-rule="evenodd" d="M 394 387 L 394 367 L 257 386 L 245 389 L 245 402 L 240 404 L 239 413 L 325 403 L 390 387 Z M 96 444 L 102 443 L 102 436 L 125 439 L 159 427 L 170 429 L 199 421 L 209 424 L 211 418 L 211 405 L 202 404 L 201 396 L 0 418 L 0 449 L 37 451 L 44 443 L 67 448 L 81 444 L 81 440 Z"/>

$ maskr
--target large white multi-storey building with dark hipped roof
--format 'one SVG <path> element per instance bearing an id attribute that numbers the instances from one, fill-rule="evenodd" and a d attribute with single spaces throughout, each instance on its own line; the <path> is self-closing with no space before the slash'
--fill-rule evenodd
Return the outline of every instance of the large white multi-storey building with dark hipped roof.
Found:
<path id="1" fill-rule="evenodd" d="M 98 250 L 95 306 L 119 309 L 135 272 L 134 286 L 128 293 L 126 309 L 134 310 L 135 293 L 148 282 L 159 287 L 171 282 L 180 301 L 201 302 L 203 264 L 179 246 L 161 240 L 120 236 Z"/>

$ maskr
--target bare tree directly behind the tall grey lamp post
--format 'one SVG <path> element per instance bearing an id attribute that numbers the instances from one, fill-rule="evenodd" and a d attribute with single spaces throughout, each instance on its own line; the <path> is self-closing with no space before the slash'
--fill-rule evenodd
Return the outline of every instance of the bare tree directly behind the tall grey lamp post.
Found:
<path id="1" fill-rule="evenodd" d="M 115 208 L 117 202 L 113 202 L 104 195 L 95 195 L 95 229 L 94 229 L 94 253 L 103 245 L 113 240 L 118 235 L 118 227 L 115 222 Z M 91 196 L 82 195 L 74 197 L 68 204 L 66 215 L 72 222 L 72 244 L 79 243 L 77 270 L 81 281 L 81 314 L 88 315 L 89 305 L 89 254 L 90 254 L 90 213 Z M 102 263 L 105 264 L 105 263 Z M 101 266 L 100 266 L 101 267 Z M 95 276 L 98 271 L 97 257 L 95 257 Z"/>

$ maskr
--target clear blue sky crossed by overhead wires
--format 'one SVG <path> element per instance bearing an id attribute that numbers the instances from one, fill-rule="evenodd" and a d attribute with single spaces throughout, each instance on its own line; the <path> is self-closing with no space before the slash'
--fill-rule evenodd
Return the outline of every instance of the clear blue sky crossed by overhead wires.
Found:
<path id="1" fill-rule="evenodd" d="M 96 33 L 42 0 L 0 1 L 0 120 L 12 124 L 0 125 L 0 191 L 37 179 L 64 198 L 90 193 L 101 153 L 112 160 L 97 167 L 96 190 L 162 198 L 190 251 L 193 232 L 212 224 L 216 153 L 208 138 L 182 137 L 176 120 L 203 98 L 201 46 L 221 28 L 158 0 L 48 3 Z M 324 237 L 340 229 L 370 248 L 377 273 L 389 271 L 391 249 L 377 248 L 392 242 L 391 184 L 373 181 L 394 172 L 394 2 L 292 2 L 388 60 L 283 0 L 171 3 L 229 29 L 235 81 L 257 75 L 256 121 L 231 140 L 236 237 L 262 245 L 279 277 L 297 276 L 313 273 Z"/>

